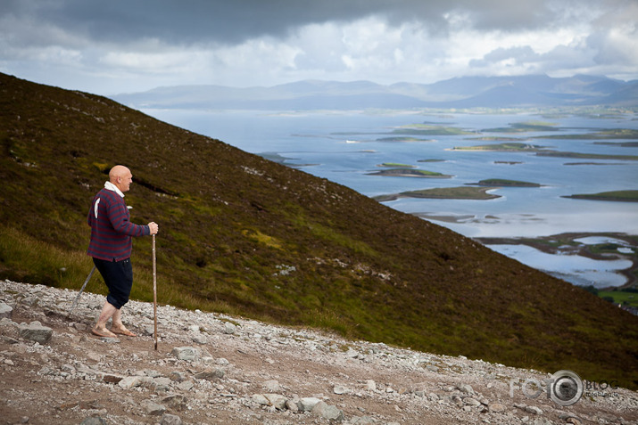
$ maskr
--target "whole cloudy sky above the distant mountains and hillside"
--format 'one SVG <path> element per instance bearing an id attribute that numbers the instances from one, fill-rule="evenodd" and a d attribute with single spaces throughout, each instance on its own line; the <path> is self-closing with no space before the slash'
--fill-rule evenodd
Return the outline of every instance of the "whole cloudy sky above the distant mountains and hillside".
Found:
<path id="1" fill-rule="evenodd" d="M 2 0 L 0 72 L 95 94 L 302 79 L 638 79 L 638 0 Z"/>

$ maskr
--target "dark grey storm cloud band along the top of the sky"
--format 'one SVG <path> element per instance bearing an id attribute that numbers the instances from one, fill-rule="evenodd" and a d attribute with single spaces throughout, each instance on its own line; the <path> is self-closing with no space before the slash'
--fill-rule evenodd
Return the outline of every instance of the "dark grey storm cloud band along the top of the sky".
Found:
<path id="1" fill-rule="evenodd" d="M 419 21 L 445 34 L 448 13 L 476 29 L 522 29 L 546 24 L 538 0 L 4 0 L 0 14 L 46 22 L 79 37 L 124 43 L 156 38 L 172 45 L 236 44 L 260 36 L 284 37 L 310 23 L 372 15 L 390 24 Z"/>

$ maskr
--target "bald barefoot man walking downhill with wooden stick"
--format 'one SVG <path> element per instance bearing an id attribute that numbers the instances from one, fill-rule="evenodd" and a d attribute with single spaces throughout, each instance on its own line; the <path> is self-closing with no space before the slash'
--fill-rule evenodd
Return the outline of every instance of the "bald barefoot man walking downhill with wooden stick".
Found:
<path id="1" fill-rule="evenodd" d="M 133 175 L 128 168 L 120 165 L 113 167 L 109 172 L 109 181 L 97 192 L 88 211 L 91 240 L 87 254 L 93 257 L 95 268 L 100 271 L 109 289 L 102 313 L 92 330 L 99 337 L 117 338 L 117 334 L 136 336 L 122 323 L 120 310 L 128 302 L 133 287 L 131 237 L 156 234 L 158 231 L 154 222 L 134 225 L 129 221 L 130 213 L 124 202 L 124 192 L 128 192 L 131 183 Z M 112 319 L 111 331 L 106 329 L 109 319 Z"/>

